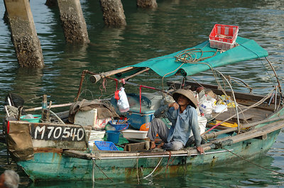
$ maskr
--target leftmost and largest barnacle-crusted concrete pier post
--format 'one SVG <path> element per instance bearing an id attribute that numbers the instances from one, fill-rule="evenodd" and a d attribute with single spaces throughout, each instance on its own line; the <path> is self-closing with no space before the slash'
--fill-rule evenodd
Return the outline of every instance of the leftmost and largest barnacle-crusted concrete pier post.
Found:
<path id="1" fill-rule="evenodd" d="M 22 67 L 44 66 L 40 40 L 35 30 L 28 0 L 4 0 L 18 64 Z"/>

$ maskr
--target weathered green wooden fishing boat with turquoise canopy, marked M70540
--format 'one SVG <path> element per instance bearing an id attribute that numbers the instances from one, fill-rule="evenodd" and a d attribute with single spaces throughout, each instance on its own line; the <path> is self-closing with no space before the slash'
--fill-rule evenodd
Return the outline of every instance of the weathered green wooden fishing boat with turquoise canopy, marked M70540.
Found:
<path id="1" fill-rule="evenodd" d="M 94 127 L 65 121 L 64 113 L 51 113 L 49 122 L 26 122 L 23 121 L 25 119 L 21 119 L 21 114 L 12 116 L 11 112 L 7 110 L 4 134 L 11 157 L 33 181 L 96 181 L 113 178 L 138 178 L 139 180 L 159 173 L 185 174 L 195 168 L 214 168 L 227 162 L 252 161 L 261 157 L 271 148 L 280 130 L 284 127 L 280 81 L 267 58 L 268 52 L 254 40 L 244 37 L 237 37 L 234 46 L 230 49 L 220 50 L 210 46 L 210 41 L 207 40 L 195 47 L 114 71 L 99 74 L 83 71 L 78 95 L 75 98 L 75 102 L 82 102 L 78 98 L 82 83 L 87 75 L 93 83 L 111 79 L 116 83 L 137 86 L 140 91 L 142 88 L 153 89 L 154 92 L 147 95 L 138 93 L 136 95 L 138 107 L 133 107 L 133 109 L 136 108 L 135 113 L 138 116 L 140 114 L 141 117 L 145 117 L 146 120 L 142 123 L 148 123 L 151 122 L 151 118 L 148 117 L 153 114 L 143 114 L 143 110 L 156 109 L 157 106 L 153 107 L 153 104 L 157 105 L 159 102 L 153 102 L 153 98 L 159 96 L 163 99 L 170 98 L 171 93 L 178 88 L 190 89 L 196 93 L 197 98 L 200 98 L 200 109 L 198 109 L 200 117 L 207 120 L 206 130 L 202 133 L 204 154 L 197 153 L 195 146 L 188 146 L 179 151 L 164 151 L 161 148 L 151 150 L 147 139 L 132 139 L 132 142 L 124 145 L 123 150 L 118 151 L 94 149 L 88 143 Z M 265 59 L 268 63 L 266 67 L 271 67 L 275 74 L 273 88 L 266 95 L 234 91 L 229 76 L 216 69 L 220 66 L 251 59 L 256 59 L 256 61 Z M 217 85 L 185 79 L 207 70 L 212 71 Z M 168 81 L 169 88 L 167 90 L 129 82 L 129 78 L 146 74 L 147 71 L 154 71 L 162 77 L 162 80 L 165 77 L 177 78 L 178 76 L 178 78 L 182 78 L 182 81 L 179 82 L 177 79 Z M 222 79 L 222 83 L 219 79 Z M 246 84 L 246 86 L 248 85 Z M 208 110 L 208 107 L 204 109 L 204 105 L 201 109 L 202 97 L 200 97 L 200 93 L 202 92 L 200 90 L 205 93 L 203 93 L 203 96 L 206 96 L 205 101 L 211 101 L 207 104 L 211 104 L 212 109 Z M 144 107 L 143 109 L 143 104 L 141 104 L 143 98 L 145 100 L 148 98 L 152 103 L 148 105 L 148 108 Z M 97 102 L 102 101 L 97 100 Z M 96 106 L 98 105 L 96 103 L 92 108 L 106 107 L 105 104 L 106 102 L 102 102 Z M 114 109 L 116 108 L 115 104 L 111 102 L 110 104 Z M 74 108 L 80 106 L 74 105 L 74 103 L 68 105 L 73 105 Z M 213 107 L 213 105 L 216 106 Z M 221 110 L 216 110 L 217 106 L 221 107 Z M 50 107 L 55 106 L 46 105 L 45 100 L 43 107 L 26 109 L 25 112 L 37 109 L 48 110 Z M 133 109 L 132 112 L 135 114 Z M 131 111 L 131 105 L 129 111 Z M 21 112 L 23 114 L 24 111 Z M 87 110 L 87 112 L 91 111 Z M 129 129 L 132 127 L 136 128 L 136 131 L 140 131 L 139 127 L 136 127 L 135 121 L 141 117 L 133 116 L 133 114 L 130 114 L 129 117 L 126 116 L 131 122 Z M 65 114 L 65 117 L 70 120 L 70 111 L 67 115 Z M 82 119 L 88 118 L 90 117 L 82 117 Z M 114 116 L 111 119 L 115 119 Z M 111 119 L 108 120 L 111 121 Z"/>

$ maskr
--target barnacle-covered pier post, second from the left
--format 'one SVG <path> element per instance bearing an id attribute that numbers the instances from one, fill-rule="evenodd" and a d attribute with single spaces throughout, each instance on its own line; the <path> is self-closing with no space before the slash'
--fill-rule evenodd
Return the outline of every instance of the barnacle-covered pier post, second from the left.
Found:
<path id="1" fill-rule="evenodd" d="M 58 0 L 58 7 L 66 42 L 89 42 L 80 0 Z"/>

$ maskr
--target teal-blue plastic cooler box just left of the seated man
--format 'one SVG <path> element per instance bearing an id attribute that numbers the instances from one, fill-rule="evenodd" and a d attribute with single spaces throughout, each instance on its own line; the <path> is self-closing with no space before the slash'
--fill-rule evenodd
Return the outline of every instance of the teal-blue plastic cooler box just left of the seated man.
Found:
<path id="1" fill-rule="evenodd" d="M 141 113 L 139 111 L 140 109 L 133 108 L 126 114 L 126 117 L 129 118 L 131 127 L 138 130 L 140 129 L 142 124 L 146 124 L 152 121 L 152 119 L 154 118 L 155 110 L 142 110 Z"/>

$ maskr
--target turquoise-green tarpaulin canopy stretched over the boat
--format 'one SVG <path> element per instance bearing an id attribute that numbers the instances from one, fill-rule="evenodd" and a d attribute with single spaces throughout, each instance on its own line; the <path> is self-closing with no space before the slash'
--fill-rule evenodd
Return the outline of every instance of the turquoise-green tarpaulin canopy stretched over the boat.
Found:
<path id="1" fill-rule="evenodd" d="M 173 76 L 178 71 L 184 76 L 190 76 L 192 74 L 197 74 L 202 71 L 211 69 L 210 66 L 212 68 L 225 66 L 227 64 L 235 64 L 240 61 L 246 61 L 249 59 L 257 59 L 268 56 L 268 52 L 262 47 L 260 47 L 253 40 L 249 40 L 244 37 L 237 37 L 236 43 L 238 44 L 238 46 L 226 50 L 226 52 L 222 53 L 217 51 L 217 49 L 211 48 L 209 40 L 195 47 L 185 49 L 192 50 L 192 52 L 195 51 L 192 56 L 196 57 L 197 59 L 207 58 L 202 61 L 197 61 L 195 63 L 182 64 L 182 61 L 177 61 L 175 56 L 182 52 L 185 52 L 185 50 L 182 50 L 180 52 L 168 54 L 163 57 L 148 59 L 147 61 L 143 61 L 141 63 L 134 64 L 131 66 L 148 67 L 155 71 L 155 73 L 157 73 L 158 75 L 165 77 Z"/>

